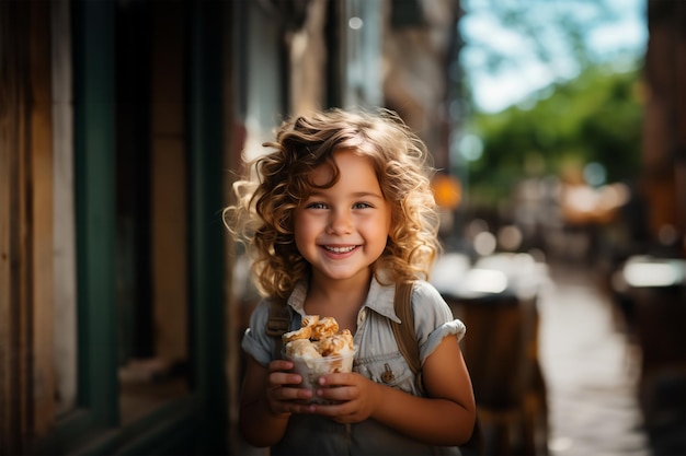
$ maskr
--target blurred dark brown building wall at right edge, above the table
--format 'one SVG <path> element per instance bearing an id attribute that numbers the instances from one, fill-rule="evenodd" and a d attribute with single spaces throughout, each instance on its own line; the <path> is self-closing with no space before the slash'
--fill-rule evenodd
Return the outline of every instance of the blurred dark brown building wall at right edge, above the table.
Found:
<path id="1" fill-rule="evenodd" d="M 686 257 L 686 4 L 648 1 L 642 188 L 654 238 Z"/>

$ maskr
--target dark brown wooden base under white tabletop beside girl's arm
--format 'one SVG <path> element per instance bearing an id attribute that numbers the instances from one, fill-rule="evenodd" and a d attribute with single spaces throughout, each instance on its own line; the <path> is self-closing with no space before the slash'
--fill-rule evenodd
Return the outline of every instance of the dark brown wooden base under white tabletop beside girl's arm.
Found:
<path id="1" fill-rule="evenodd" d="M 444 293 L 468 328 L 462 352 L 471 376 L 484 455 L 547 455 L 546 387 L 538 363 L 536 297 L 503 292 Z"/>

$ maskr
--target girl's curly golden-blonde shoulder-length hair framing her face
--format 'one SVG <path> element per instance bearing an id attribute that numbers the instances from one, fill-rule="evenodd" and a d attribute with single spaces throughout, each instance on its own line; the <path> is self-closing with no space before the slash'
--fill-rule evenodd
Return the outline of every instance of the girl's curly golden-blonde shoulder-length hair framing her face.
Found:
<path id="1" fill-rule="evenodd" d="M 318 112 L 285 121 L 275 141 L 263 145 L 274 151 L 248 163 L 254 178 L 233 184 L 237 202 L 224 210 L 229 233 L 247 246 L 262 294 L 286 299 L 298 281 L 309 277 L 310 265 L 294 241 L 294 212 L 316 187 L 310 180 L 316 167 L 331 166 L 333 178 L 324 187 L 335 184 L 333 153 L 343 149 L 371 159 L 391 206 L 386 248 L 371 265 L 376 279 L 388 283 L 428 279 L 441 248 L 430 185 L 434 169 L 425 144 L 396 113 Z"/>

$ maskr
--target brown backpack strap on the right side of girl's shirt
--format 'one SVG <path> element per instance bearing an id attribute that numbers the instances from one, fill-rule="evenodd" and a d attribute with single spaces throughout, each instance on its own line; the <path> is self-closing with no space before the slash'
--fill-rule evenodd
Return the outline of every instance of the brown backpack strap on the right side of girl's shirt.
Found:
<path id="1" fill-rule="evenodd" d="M 422 384 L 422 365 L 420 361 L 420 346 L 416 341 L 416 332 L 414 330 L 414 314 L 412 313 L 412 289 L 414 282 L 402 282 L 396 285 L 396 296 L 393 299 L 393 308 L 396 315 L 400 318 L 400 323 L 391 321 L 393 336 L 398 349 L 404 356 L 410 370 L 416 378 L 416 385 L 420 391 L 424 391 Z"/>

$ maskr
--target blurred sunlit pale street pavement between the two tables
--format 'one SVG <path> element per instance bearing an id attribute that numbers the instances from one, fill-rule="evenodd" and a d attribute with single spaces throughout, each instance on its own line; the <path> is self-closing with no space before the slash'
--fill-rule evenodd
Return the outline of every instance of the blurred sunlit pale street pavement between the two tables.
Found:
<path id="1" fill-rule="evenodd" d="M 649 456 L 637 382 L 640 352 L 581 265 L 549 267 L 539 300 L 539 360 L 552 456 Z"/>

